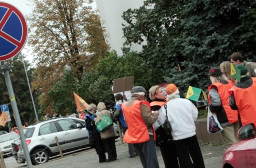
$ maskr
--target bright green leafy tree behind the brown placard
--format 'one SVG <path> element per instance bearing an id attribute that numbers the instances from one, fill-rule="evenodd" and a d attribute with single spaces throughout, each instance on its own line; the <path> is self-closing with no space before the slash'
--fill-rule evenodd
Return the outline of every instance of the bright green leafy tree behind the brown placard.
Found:
<path id="1" fill-rule="evenodd" d="M 134 75 L 134 85 L 148 85 L 148 69 L 135 52 L 128 52 L 118 56 L 116 52 L 106 53 L 99 59 L 96 68 L 84 74 L 77 92 L 88 103 L 114 101 L 111 87 L 112 80 L 124 76 Z"/>

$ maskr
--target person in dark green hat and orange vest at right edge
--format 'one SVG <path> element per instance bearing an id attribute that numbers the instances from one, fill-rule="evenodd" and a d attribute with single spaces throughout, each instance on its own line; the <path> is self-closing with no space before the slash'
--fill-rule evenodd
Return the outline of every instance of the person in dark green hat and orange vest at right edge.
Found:
<path id="1" fill-rule="evenodd" d="M 233 110 L 238 110 L 240 127 L 254 123 L 256 125 L 256 78 L 247 76 L 247 68 L 242 64 L 236 66 L 240 70 L 240 82 L 229 91 L 229 104 Z"/>

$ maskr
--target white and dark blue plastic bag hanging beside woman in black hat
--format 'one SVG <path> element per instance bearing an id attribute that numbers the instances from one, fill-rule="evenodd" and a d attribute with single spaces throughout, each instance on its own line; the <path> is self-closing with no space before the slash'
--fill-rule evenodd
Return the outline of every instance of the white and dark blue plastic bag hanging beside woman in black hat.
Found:
<path id="1" fill-rule="evenodd" d="M 210 111 L 210 107 L 208 106 L 208 114 L 207 114 L 207 131 L 209 133 L 218 133 L 223 130 L 222 126 L 217 119 L 217 115 Z"/>

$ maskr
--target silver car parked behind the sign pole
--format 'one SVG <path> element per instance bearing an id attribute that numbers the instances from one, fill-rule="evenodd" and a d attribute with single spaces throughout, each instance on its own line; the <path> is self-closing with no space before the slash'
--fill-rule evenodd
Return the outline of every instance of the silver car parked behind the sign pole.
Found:
<path id="1" fill-rule="evenodd" d="M 26 127 L 24 132 L 32 164 L 48 162 L 49 157 L 59 154 L 54 137 L 58 137 L 63 153 L 90 147 L 88 131 L 84 127 L 84 123 L 83 119 L 58 117 Z M 117 129 L 115 128 L 115 130 Z M 25 161 L 21 145 L 19 145 L 17 156 L 17 161 Z"/>

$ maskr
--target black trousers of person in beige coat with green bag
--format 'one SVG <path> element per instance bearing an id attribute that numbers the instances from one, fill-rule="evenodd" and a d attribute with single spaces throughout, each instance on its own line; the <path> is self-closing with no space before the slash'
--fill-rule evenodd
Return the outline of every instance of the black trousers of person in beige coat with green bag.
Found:
<path id="1" fill-rule="evenodd" d="M 108 159 L 109 160 L 116 160 L 116 144 L 114 137 L 102 139 L 104 147 L 106 148 L 106 151 L 108 153 Z"/>

